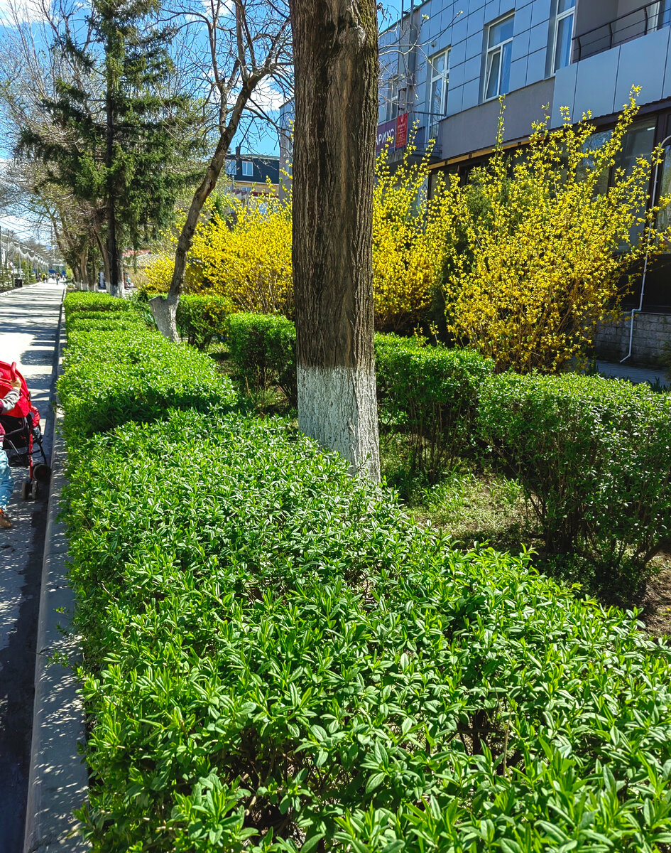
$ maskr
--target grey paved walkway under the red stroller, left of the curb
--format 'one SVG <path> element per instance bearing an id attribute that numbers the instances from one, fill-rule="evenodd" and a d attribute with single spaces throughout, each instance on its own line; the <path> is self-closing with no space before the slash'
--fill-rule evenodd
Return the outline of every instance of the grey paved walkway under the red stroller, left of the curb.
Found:
<path id="1" fill-rule="evenodd" d="M 42 416 L 49 458 L 53 432 L 54 356 L 63 286 L 37 284 L 0 296 L 0 360 L 16 362 Z M 21 498 L 26 470 L 13 468 L 14 527 L 0 530 L 0 851 L 23 849 L 32 734 L 35 642 L 47 490 Z"/>

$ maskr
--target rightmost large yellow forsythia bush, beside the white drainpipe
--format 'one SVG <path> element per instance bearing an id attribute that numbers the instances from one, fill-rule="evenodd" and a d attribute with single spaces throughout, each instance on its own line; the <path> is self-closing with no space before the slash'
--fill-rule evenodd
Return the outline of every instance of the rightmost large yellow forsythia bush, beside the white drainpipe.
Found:
<path id="1" fill-rule="evenodd" d="M 512 160 L 499 146 L 479 171 L 485 205 L 477 215 L 468 204 L 472 187 L 447 188 L 467 244 L 458 253 L 450 244 L 448 328 L 497 368 L 554 372 L 581 357 L 646 248 L 658 251 L 659 208 L 645 209 L 651 160 L 619 165 L 636 112 L 632 96 L 599 148 L 589 116 L 573 126 L 567 114 L 558 131 L 548 130 L 548 119 L 534 125 Z"/>

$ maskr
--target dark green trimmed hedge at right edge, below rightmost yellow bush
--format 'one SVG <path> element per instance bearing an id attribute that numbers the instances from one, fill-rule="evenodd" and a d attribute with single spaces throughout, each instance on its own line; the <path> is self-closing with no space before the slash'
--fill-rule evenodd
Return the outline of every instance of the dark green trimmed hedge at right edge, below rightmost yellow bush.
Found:
<path id="1" fill-rule="evenodd" d="M 502 374 L 479 431 L 524 486 L 548 554 L 607 580 L 671 548 L 671 396 L 599 376 Z"/>

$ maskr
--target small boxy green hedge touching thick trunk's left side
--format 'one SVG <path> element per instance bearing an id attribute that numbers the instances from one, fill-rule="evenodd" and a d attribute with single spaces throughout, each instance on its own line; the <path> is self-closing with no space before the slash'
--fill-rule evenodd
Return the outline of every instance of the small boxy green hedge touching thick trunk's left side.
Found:
<path id="1" fill-rule="evenodd" d="M 254 396 L 279 387 L 296 403 L 295 327 L 283 316 L 232 314 L 227 340 L 234 377 Z"/>

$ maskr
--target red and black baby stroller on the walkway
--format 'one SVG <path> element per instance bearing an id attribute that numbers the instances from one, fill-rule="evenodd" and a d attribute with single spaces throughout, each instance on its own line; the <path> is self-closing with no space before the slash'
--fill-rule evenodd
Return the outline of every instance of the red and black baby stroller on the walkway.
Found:
<path id="1" fill-rule="evenodd" d="M 24 500 L 36 498 L 39 494 L 39 484 L 46 482 L 51 474 L 47 465 L 47 457 L 42 446 L 42 430 L 40 414 L 31 403 L 31 392 L 28 391 L 26 380 L 16 369 L 16 363 L 0 362 L 0 399 L 12 387 L 14 379 L 21 380 L 19 402 L 14 409 L 0 415 L 0 423 L 5 431 L 3 450 L 7 453 L 10 464 L 14 463 L 28 469 L 28 479 L 21 486 Z M 39 450 L 42 461 L 33 461 L 33 454 Z"/>

